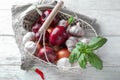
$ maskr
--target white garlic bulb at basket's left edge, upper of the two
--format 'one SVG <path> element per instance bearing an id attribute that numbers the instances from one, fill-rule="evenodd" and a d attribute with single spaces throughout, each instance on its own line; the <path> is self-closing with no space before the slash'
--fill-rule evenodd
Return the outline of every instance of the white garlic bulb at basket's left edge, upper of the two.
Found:
<path id="1" fill-rule="evenodd" d="M 35 39 L 35 33 L 27 32 L 22 39 L 22 43 L 25 44 L 27 41 L 32 41 L 34 39 Z"/>

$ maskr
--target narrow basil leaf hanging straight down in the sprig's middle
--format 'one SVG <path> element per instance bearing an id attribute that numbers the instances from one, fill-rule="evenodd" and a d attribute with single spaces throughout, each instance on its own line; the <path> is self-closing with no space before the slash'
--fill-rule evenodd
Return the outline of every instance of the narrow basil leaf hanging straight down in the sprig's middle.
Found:
<path id="1" fill-rule="evenodd" d="M 86 68 L 87 65 L 87 59 L 86 59 L 86 54 L 82 53 L 78 59 L 78 63 L 81 68 Z"/>

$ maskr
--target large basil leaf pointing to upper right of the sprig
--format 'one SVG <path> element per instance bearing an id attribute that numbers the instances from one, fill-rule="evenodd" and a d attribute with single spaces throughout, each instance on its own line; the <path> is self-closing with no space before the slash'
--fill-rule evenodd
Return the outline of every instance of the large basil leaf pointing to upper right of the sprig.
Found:
<path id="1" fill-rule="evenodd" d="M 92 48 L 93 50 L 96 50 L 96 49 L 102 47 L 106 42 L 107 42 L 106 38 L 97 36 L 97 37 L 91 39 L 88 46 L 90 48 Z"/>

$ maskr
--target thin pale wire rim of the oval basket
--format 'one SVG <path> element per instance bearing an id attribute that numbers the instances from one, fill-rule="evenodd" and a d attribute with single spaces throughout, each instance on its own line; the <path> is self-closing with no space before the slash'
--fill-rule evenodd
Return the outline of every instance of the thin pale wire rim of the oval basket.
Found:
<path id="1" fill-rule="evenodd" d="M 38 8 L 39 8 L 39 9 L 41 9 L 41 8 L 42 8 L 42 9 L 46 9 L 46 8 L 52 9 L 52 8 L 54 8 L 54 6 L 53 6 L 53 5 L 39 5 Z M 25 12 L 25 15 L 23 16 L 23 20 L 24 20 L 24 17 L 27 16 L 28 13 L 31 12 L 32 10 L 35 10 L 35 9 L 34 9 L 34 8 L 32 8 L 32 9 L 30 9 L 30 10 L 28 9 L 28 10 Z M 70 14 L 63 12 L 63 11 L 65 11 L 65 10 L 68 11 L 66 8 L 62 8 L 59 12 L 65 14 L 65 15 L 71 16 Z M 71 11 L 71 12 L 73 12 L 73 11 Z M 73 12 L 73 13 L 76 13 L 76 12 Z M 93 26 L 92 26 L 91 24 L 89 24 L 88 22 L 84 21 L 83 19 L 76 18 L 76 17 L 74 17 L 74 18 L 77 19 L 77 20 L 79 20 L 79 21 L 84 22 L 85 24 L 87 24 L 87 25 L 94 31 L 95 36 L 98 36 L 96 30 L 93 28 Z M 26 52 L 25 52 L 25 53 L 26 53 Z M 42 61 L 42 62 L 45 63 L 46 65 L 50 65 L 50 66 L 53 66 L 53 67 L 56 67 L 57 69 L 59 69 L 59 66 L 57 66 L 57 65 L 55 65 L 55 64 L 48 63 L 48 62 L 46 62 L 46 61 L 44 61 L 44 60 L 42 60 L 42 59 L 34 56 L 33 54 L 30 54 L 30 53 L 28 53 L 28 54 L 31 55 L 31 56 L 33 56 L 34 58 Z M 69 68 L 69 69 L 74 69 L 74 68 L 75 68 L 75 69 L 76 69 L 76 68 L 78 68 L 78 67 L 67 67 L 67 68 Z M 80 68 L 80 67 L 79 67 L 79 68 Z"/>

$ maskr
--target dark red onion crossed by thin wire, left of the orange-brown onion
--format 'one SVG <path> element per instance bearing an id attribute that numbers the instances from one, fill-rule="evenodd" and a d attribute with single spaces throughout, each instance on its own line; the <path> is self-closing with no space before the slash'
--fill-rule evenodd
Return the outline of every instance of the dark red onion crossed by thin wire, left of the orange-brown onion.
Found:
<path id="1" fill-rule="evenodd" d="M 41 48 L 37 54 L 37 57 L 39 57 L 40 59 L 44 60 L 47 62 L 47 59 L 45 57 L 45 50 L 46 50 L 46 54 L 47 54 L 47 57 L 48 57 L 48 60 L 51 62 L 51 63 L 55 63 L 55 60 L 56 60 L 56 53 L 55 51 L 50 48 L 50 47 L 45 47 L 44 48 Z"/>

